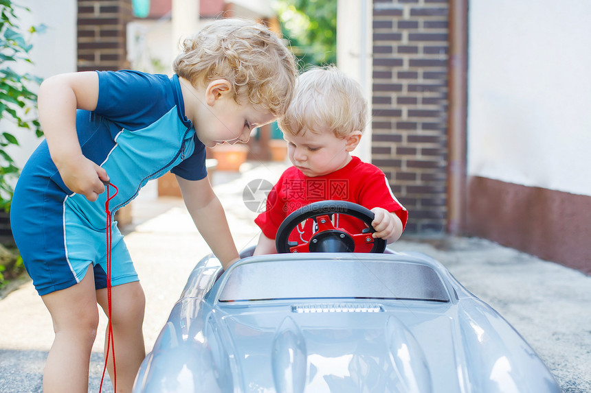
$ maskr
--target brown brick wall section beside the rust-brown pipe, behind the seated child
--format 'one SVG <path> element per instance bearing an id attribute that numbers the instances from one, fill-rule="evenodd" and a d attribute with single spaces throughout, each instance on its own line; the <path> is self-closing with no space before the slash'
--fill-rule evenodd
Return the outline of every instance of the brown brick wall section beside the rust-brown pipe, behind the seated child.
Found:
<path id="1" fill-rule="evenodd" d="M 374 0 L 372 162 L 409 210 L 405 233 L 447 219 L 448 0 Z"/>

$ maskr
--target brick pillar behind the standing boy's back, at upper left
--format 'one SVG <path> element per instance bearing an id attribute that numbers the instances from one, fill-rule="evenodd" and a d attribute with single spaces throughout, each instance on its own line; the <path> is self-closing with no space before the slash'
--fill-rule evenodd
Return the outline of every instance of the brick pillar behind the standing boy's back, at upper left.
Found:
<path id="1" fill-rule="evenodd" d="M 78 71 L 129 68 L 126 25 L 131 0 L 78 0 Z"/>

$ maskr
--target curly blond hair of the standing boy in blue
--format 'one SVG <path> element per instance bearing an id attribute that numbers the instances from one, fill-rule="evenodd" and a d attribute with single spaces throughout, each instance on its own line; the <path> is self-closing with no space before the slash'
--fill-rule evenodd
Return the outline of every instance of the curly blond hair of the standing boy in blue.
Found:
<path id="1" fill-rule="evenodd" d="M 218 19 L 183 40 L 182 53 L 172 64 L 175 73 L 193 86 L 216 79 L 234 86 L 234 100 L 285 113 L 298 71 L 293 54 L 261 23 L 247 19 Z"/>

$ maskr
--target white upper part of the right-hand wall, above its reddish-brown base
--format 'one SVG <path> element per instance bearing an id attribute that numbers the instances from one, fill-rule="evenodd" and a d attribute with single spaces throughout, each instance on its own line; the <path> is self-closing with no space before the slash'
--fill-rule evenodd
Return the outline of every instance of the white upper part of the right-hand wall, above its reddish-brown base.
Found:
<path id="1" fill-rule="evenodd" d="M 591 1 L 470 0 L 468 172 L 591 195 Z"/>

